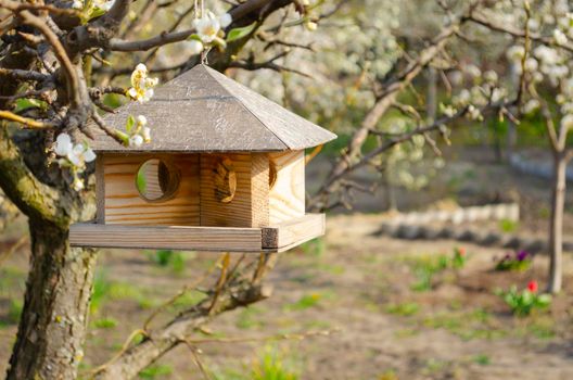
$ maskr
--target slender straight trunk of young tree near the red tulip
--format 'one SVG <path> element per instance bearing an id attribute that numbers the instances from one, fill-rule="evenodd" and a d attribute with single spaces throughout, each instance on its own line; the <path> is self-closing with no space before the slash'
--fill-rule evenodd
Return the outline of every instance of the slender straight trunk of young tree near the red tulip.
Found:
<path id="1" fill-rule="evenodd" d="M 559 293 L 563 277 L 563 211 L 565 207 L 566 160 L 556 153 L 553 160 L 553 189 L 551 195 L 551 220 L 549 224 L 549 282 L 547 291 Z"/>

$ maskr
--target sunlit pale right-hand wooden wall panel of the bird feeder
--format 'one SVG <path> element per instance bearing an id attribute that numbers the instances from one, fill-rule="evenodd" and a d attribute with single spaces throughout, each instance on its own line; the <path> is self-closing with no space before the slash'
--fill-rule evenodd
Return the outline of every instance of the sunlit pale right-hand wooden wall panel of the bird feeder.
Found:
<path id="1" fill-rule="evenodd" d="M 269 223 L 277 225 L 305 215 L 305 152 L 269 153 L 275 183 L 269 193 Z M 272 169 L 273 167 L 273 169 Z"/>

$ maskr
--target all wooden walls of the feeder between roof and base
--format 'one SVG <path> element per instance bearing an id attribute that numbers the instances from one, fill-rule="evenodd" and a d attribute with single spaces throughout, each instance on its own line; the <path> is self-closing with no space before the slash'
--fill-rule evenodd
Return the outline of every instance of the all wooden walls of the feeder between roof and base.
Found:
<path id="1" fill-rule="evenodd" d="M 157 172 L 156 163 L 142 166 L 152 159 L 175 168 L 179 178 L 177 189 L 156 201 L 145 200 L 137 188 L 140 169 L 141 173 Z M 224 161 L 234 176 L 234 187 L 231 174 L 221 169 Z M 225 154 L 100 153 L 96 176 L 100 224 L 267 227 L 305 215 L 303 150 Z M 160 188 L 157 178 L 149 176 L 145 189 L 153 192 Z M 221 201 L 231 192 L 230 200 Z"/>

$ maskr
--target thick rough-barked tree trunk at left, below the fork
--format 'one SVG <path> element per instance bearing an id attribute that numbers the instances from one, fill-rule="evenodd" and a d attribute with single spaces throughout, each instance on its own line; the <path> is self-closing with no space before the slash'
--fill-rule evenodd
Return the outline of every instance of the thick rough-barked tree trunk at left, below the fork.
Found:
<path id="1" fill-rule="evenodd" d="M 29 221 L 31 255 L 8 380 L 77 377 L 84 356 L 96 251 L 72 249 L 68 231 Z"/>

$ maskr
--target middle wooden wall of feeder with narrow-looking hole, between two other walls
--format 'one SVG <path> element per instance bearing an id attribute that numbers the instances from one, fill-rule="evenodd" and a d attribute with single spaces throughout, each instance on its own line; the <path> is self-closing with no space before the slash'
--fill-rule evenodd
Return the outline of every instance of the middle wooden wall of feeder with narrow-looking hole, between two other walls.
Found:
<path id="1" fill-rule="evenodd" d="M 232 200 L 221 202 L 227 190 L 220 167 L 227 159 L 235 179 Z M 219 177 L 219 178 L 217 178 Z M 219 189 L 224 187 L 222 189 Z M 201 226 L 264 227 L 269 225 L 269 161 L 266 153 L 201 154 Z"/>

